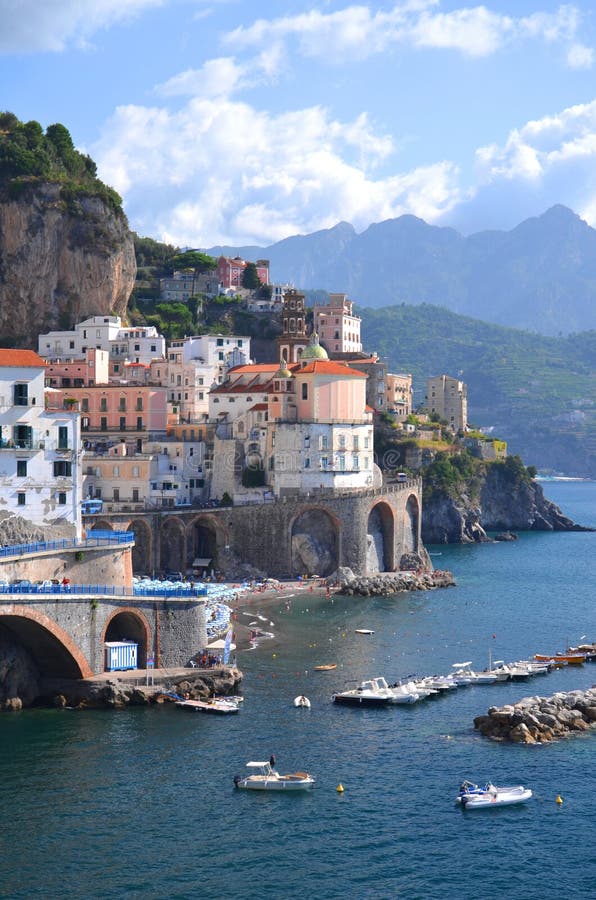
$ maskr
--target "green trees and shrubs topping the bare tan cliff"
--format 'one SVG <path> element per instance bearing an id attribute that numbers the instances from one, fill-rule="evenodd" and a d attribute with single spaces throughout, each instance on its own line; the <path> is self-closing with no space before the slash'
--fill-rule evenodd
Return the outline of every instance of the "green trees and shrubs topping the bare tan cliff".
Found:
<path id="1" fill-rule="evenodd" d="M 90 156 L 79 153 L 70 132 L 59 123 L 45 132 L 39 122 L 21 122 L 11 112 L 0 112 L 0 190 L 19 199 L 36 184 L 60 184 L 61 198 L 73 214 L 81 212 L 82 197 L 98 197 L 124 215 L 122 200 L 97 177 Z"/>

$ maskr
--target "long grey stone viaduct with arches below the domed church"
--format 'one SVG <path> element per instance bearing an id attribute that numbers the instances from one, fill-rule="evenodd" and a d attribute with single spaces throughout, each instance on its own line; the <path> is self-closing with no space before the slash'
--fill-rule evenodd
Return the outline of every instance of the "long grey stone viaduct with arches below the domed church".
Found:
<path id="1" fill-rule="evenodd" d="M 130 513 L 106 506 L 87 529 L 133 531 L 133 569 L 190 572 L 250 563 L 268 575 L 326 576 L 338 566 L 360 574 L 399 569 L 422 549 L 419 480 L 363 491 L 314 491 L 270 503 Z M 92 533 L 92 532 L 90 532 Z"/>

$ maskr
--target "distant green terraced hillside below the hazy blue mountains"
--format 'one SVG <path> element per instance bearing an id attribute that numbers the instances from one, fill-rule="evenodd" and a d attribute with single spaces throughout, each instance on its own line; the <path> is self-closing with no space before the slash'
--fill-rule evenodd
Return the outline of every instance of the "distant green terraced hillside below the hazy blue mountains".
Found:
<path id="1" fill-rule="evenodd" d="M 357 312 L 364 345 L 412 374 L 415 405 L 430 376 L 460 377 L 474 425 L 542 468 L 596 476 L 596 331 L 545 337 L 426 304 Z"/>

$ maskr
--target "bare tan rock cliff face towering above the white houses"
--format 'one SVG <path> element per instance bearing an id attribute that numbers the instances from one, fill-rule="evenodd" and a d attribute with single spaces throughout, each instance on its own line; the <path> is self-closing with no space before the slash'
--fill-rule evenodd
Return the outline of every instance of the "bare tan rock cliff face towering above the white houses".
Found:
<path id="1" fill-rule="evenodd" d="M 123 315 L 136 260 L 126 218 L 98 197 L 65 202 L 38 184 L 0 202 L 0 344 L 37 349 L 37 335 L 92 315 Z"/>

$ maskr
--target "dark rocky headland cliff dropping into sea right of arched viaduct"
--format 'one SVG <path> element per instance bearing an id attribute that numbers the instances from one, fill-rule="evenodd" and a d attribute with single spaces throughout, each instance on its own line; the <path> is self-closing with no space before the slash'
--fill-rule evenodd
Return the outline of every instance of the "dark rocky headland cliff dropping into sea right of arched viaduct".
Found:
<path id="1" fill-rule="evenodd" d="M 587 531 L 547 500 L 535 481 L 516 481 L 489 466 L 479 500 L 436 492 L 422 508 L 425 544 L 465 544 L 489 540 L 487 531 Z"/>

